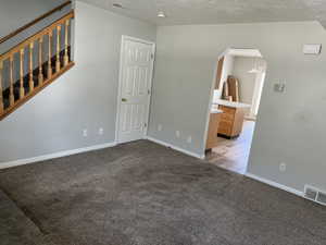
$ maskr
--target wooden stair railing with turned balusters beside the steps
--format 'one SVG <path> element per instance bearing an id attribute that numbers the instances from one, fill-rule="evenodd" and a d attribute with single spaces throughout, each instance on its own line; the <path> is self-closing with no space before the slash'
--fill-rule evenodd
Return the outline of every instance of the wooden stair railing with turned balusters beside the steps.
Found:
<path id="1" fill-rule="evenodd" d="M 0 56 L 0 120 L 74 65 L 68 38 L 72 19 L 73 11 Z"/>

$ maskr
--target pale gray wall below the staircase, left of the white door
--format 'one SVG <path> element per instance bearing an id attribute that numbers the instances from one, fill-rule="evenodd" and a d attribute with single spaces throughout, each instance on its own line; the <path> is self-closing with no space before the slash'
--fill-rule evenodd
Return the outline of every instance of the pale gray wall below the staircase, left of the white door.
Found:
<path id="1" fill-rule="evenodd" d="M 73 70 L 0 122 L 0 167 L 114 142 L 122 35 L 154 41 L 156 28 L 82 2 L 75 23 Z M 97 134 L 99 127 L 103 136 Z"/>

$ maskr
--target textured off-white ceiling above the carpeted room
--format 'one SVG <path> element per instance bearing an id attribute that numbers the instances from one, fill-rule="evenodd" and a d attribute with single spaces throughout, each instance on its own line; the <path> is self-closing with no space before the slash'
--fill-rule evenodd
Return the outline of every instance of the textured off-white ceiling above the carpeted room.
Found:
<path id="1" fill-rule="evenodd" d="M 79 0 L 156 25 L 321 21 L 326 0 Z M 121 3 L 124 9 L 112 7 Z M 166 19 L 159 19 L 164 11 Z"/>

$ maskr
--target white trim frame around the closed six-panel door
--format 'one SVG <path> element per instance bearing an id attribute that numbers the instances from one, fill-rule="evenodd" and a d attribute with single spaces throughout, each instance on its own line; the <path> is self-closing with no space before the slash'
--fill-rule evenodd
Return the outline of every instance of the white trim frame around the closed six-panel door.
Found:
<path id="1" fill-rule="evenodd" d="M 145 128 L 143 132 L 143 138 L 147 136 L 148 133 L 148 126 L 149 126 L 149 112 L 150 112 L 150 103 L 151 103 L 151 96 L 152 96 L 152 84 L 153 84 L 153 71 L 154 71 L 154 60 L 155 60 L 155 50 L 156 50 L 156 45 L 155 42 L 139 39 L 136 37 L 130 37 L 123 35 L 122 36 L 122 41 L 121 41 L 121 51 L 120 51 L 120 68 L 118 68 L 118 87 L 117 87 L 117 100 L 116 100 L 116 119 L 115 119 L 115 143 L 120 144 L 118 142 L 118 130 L 120 130 L 120 115 L 121 115 L 121 100 L 122 100 L 122 83 L 123 83 L 123 60 L 124 60 L 124 45 L 126 40 L 131 40 L 131 41 L 137 41 L 137 42 L 142 42 L 146 45 L 151 45 L 152 46 L 152 54 L 154 56 L 152 61 L 151 61 L 151 69 L 150 69 L 150 94 L 148 97 L 148 108 L 146 112 L 146 123 L 147 127 Z"/>

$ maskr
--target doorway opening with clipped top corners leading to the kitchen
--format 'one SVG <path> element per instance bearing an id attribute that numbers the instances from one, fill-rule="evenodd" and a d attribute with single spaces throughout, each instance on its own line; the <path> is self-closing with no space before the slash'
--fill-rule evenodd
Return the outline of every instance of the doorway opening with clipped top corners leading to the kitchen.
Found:
<path id="1" fill-rule="evenodd" d="M 208 117 L 205 158 L 244 174 L 267 64 L 258 49 L 227 49 L 220 58 Z"/>

